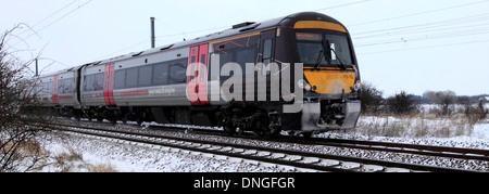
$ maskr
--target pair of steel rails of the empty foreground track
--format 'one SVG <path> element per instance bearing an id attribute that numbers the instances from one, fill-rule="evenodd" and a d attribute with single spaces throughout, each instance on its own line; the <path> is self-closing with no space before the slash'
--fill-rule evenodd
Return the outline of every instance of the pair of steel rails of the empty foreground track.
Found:
<path id="1" fill-rule="evenodd" d="M 416 171 L 432 171 L 432 172 L 475 172 L 472 170 L 464 170 L 464 169 L 423 166 L 423 165 L 413 165 L 413 164 L 394 163 L 394 161 L 384 161 L 384 160 L 375 160 L 375 159 L 367 159 L 367 158 L 356 158 L 356 157 L 337 156 L 337 155 L 329 155 L 329 154 L 317 154 L 317 153 L 310 153 L 310 152 L 299 152 L 299 151 L 262 147 L 262 146 L 254 146 L 254 145 L 231 144 L 231 143 L 224 143 L 224 142 L 167 137 L 167 135 L 161 135 L 161 134 L 147 134 L 147 133 L 140 133 L 140 132 L 99 129 L 99 128 L 92 128 L 92 127 L 58 125 L 58 127 L 60 127 L 60 126 L 61 127 L 72 127 L 72 128 L 85 128 L 85 129 L 98 130 L 98 131 L 104 131 L 104 132 L 123 133 L 123 134 L 127 134 L 127 135 L 142 135 L 146 138 L 153 138 L 153 139 L 166 139 L 166 140 L 180 141 L 180 142 L 191 142 L 191 143 L 198 143 L 198 144 L 212 144 L 212 145 L 217 145 L 217 146 L 222 146 L 222 147 L 234 147 L 234 148 L 242 148 L 242 150 L 269 152 L 269 153 L 281 153 L 281 154 L 287 154 L 287 155 L 314 157 L 314 158 L 319 158 L 319 159 L 335 159 L 335 160 L 340 160 L 341 163 L 360 163 L 363 166 L 377 165 L 377 166 L 383 167 L 383 170 L 379 170 L 379 171 L 384 171 L 387 168 L 404 168 L 404 169 L 416 170 Z M 72 131 L 74 131 L 74 130 L 72 130 Z M 264 163 L 271 163 L 271 164 L 286 165 L 286 166 L 292 166 L 292 167 L 298 167 L 298 168 L 315 169 L 315 170 L 321 170 L 321 171 L 333 171 L 333 172 L 351 172 L 352 171 L 349 169 L 337 168 L 338 165 L 336 165 L 336 166 L 319 166 L 319 165 L 314 165 L 314 164 L 304 164 L 304 163 L 298 163 L 298 161 L 274 159 L 274 158 L 269 158 L 269 157 L 259 157 L 259 156 L 254 156 L 254 155 L 243 155 L 241 153 L 221 152 L 217 150 L 199 148 L 199 147 L 191 147 L 191 146 L 185 146 L 185 145 L 178 145 L 178 144 L 172 144 L 172 143 L 165 143 L 165 142 L 154 142 L 154 141 L 148 141 L 148 140 L 141 140 L 141 139 L 100 134 L 100 133 L 93 133 L 93 132 L 87 132 L 87 131 L 75 130 L 74 132 L 80 132 L 80 133 L 86 133 L 86 134 L 91 134 L 91 135 L 100 135 L 100 137 L 112 138 L 112 139 L 120 139 L 120 140 L 125 140 L 125 141 L 133 141 L 133 142 L 138 142 L 138 143 L 148 143 L 148 144 L 153 144 L 153 145 L 175 147 L 175 148 L 181 148 L 181 150 L 200 152 L 200 153 L 210 153 L 210 154 L 223 155 L 223 156 L 228 156 L 228 157 L 238 157 L 238 158 L 244 158 L 244 159 L 251 159 L 251 160 L 258 160 L 258 161 L 264 161 Z"/>

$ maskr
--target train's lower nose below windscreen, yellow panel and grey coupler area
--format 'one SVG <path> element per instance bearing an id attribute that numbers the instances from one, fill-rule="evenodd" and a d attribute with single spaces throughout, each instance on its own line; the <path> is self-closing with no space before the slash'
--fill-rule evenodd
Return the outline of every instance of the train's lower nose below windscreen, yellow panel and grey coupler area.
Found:
<path id="1" fill-rule="evenodd" d="M 336 67 L 304 68 L 308 80 L 303 104 L 302 130 L 352 129 L 360 116 L 360 101 L 350 100 L 360 89 L 354 69 Z M 308 89 L 310 87 L 310 90 Z M 321 95 L 317 95 L 321 94 Z"/>

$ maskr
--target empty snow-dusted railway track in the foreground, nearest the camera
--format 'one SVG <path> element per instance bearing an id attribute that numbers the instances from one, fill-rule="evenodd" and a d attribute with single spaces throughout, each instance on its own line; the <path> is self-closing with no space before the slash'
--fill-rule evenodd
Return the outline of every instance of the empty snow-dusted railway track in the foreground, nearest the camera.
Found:
<path id="1" fill-rule="evenodd" d="M 301 170 L 331 172 L 388 172 L 388 171 L 432 171 L 432 172 L 467 172 L 469 170 L 385 161 L 300 152 L 269 146 L 244 145 L 162 134 L 148 134 L 141 131 L 121 131 L 82 127 L 74 125 L 57 125 L 57 130 L 64 130 L 87 135 L 129 141 L 152 146 L 177 148 L 185 152 L 215 155 L 229 160 L 247 160 L 258 164 L 292 167 Z M 338 142 L 336 142 L 338 143 Z"/>

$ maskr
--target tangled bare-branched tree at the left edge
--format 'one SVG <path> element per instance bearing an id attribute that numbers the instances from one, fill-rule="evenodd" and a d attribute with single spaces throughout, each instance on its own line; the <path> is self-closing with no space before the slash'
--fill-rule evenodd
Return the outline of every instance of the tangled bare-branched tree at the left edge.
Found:
<path id="1" fill-rule="evenodd" d="M 18 26 L 17 26 L 18 27 Z M 0 37 L 0 172 L 30 171 L 39 167 L 45 153 L 36 140 L 49 128 L 49 118 L 32 113 L 39 107 L 28 66 L 7 49 L 8 40 L 17 28 Z"/>

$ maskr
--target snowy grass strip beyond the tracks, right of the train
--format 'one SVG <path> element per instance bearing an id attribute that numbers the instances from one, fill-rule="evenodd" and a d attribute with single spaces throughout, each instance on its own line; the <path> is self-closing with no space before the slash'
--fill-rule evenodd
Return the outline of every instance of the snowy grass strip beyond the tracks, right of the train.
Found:
<path id="1" fill-rule="evenodd" d="M 489 119 L 362 116 L 353 130 L 318 137 L 489 150 Z"/>

